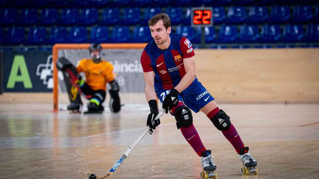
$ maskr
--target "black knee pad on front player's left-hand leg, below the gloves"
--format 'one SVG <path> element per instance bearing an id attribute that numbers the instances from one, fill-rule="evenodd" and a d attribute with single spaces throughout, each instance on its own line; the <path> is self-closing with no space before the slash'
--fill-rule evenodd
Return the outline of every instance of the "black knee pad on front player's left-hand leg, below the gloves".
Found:
<path id="1" fill-rule="evenodd" d="M 174 116 L 177 122 L 177 129 L 179 129 L 179 127 L 189 127 L 193 124 L 192 112 L 187 106 L 179 106 L 175 110 Z"/>

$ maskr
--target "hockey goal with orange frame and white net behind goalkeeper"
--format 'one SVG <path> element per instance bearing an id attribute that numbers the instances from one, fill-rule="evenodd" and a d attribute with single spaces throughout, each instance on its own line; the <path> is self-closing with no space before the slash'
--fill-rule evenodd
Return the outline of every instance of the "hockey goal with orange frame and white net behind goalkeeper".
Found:
<path id="1" fill-rule="evenodd" d="M 53 54 L 53 108 L 54 111 L 66 109 L 69 104 L 67 89 L 63 75 L 56 69 L 56 60 L 65 57 L 74 66 L 84 58 L 90 58 L 90 44 L 55 44 Z M 121 103 L 124 105 L 147 104 L 144 89 L 145 81 L 143 70 L 140 64 L 140 57 L 146 44 L 101 44 L 101 58 L 113 64 L 113 73 L 120 86 Z M 80 74 L 85 78 L 84 74 Z M 107 89 L 109 89 L 107 87 Z M 105 105 L 108 105 L 109 94 L 107 93 Z M 85 104 L 87 100 L 82 99 Z"/>

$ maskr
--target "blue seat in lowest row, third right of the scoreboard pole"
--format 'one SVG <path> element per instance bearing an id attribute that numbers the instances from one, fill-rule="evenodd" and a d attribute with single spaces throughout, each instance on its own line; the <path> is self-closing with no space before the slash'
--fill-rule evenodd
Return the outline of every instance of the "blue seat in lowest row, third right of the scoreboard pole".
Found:
<path id="1" fill-rule="evenodd" d="M 259 30 L 256 25 L 242 25 L 239 32 L 238 42 L 251 43 L 257 42 L 260 38 Z"/>

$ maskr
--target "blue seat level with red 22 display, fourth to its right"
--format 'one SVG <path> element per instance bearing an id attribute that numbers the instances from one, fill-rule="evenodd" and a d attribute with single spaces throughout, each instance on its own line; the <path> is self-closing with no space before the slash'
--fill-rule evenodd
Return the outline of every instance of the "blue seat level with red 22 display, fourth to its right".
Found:
<path id="1" fill-rule="evenodd" d="M 285 23 L 290 18 L 290 10 L 288 6 L 273 6 L 270 12 L 268 22 Z"/>

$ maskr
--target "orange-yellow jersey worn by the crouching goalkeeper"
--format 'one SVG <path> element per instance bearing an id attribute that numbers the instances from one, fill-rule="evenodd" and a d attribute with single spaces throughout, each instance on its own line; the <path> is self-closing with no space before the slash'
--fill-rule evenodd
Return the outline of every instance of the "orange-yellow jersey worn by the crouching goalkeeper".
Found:
<path id="1" fill-rule="evenodd" d="M 106 91 L 106 83 L 114 80 L 113 65 L 101 60 L 94 63 L 92 59 L 82 59 L 77 66 L 78 73 L 85 73 L 85 83 L 93 90 Z"/>

